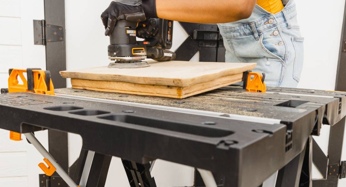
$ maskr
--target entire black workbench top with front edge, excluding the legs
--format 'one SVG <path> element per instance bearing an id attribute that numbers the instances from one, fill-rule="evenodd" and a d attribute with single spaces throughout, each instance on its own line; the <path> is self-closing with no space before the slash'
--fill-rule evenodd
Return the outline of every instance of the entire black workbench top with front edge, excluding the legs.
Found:
<path id="1" fill-rule="evenodd" d="M 319 92 L 321 96 L 316 97 L 301 95 L 309 95 L 305 90 L 286 95 L 280 94 L 285 90 L 274 88 L 275 93 L 231 88 L 235 87 L 184 100 L 56 90 L 70 96 L 220 112 L 221 116 L 62 96 L 1 94 L 0 128 L 21 133 L 45 128 L 71 132 L 82 136 L 84 149 L 138 163 L 168 160 L 225 175 L 226 187 L 257 187 L 303 150 L 323 120 L 334 125 L 345 116 L 344 93 Z M 254 118 L 235 120 L 233 114 Z M 277 123 L 256 121 L 262 118 L 274 118 Z"/>

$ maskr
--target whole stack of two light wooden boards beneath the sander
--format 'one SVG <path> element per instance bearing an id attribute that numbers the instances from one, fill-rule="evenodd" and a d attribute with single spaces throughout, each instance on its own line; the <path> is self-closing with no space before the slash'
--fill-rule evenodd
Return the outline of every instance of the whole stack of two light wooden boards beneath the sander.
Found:
<path id="1" fill-rule="evenodd" d="M 110 69 L 106 66 L 63 71 L 72 87 L 94 91 L 186 98 L 242 81 L 254 63 L 149 62 L 150 67 Z"/>

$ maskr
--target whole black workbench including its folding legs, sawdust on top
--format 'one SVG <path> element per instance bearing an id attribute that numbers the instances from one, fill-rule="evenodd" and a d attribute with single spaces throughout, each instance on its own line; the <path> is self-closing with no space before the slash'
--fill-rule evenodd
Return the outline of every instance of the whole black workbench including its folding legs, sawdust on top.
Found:
<path id="1" fill-rule="evenodd" d="M 346 175 L 340 160 L 345 115 L 344 92 L 278 87 L 253 93 L 227 86 L 183 100 L 69 88 L 56 89 L 55 96 L 0 95 L 2 129 L 81 135 L 81 155 L 70 175 L 86 186 L 104 185 L 107 164 L 117 156 L 131 187 L 156 186 L 149 172 L 155 159 L 211 171 L 224 187 L 258 187 L 277 170 L 276 187 L 334 187 Z M 329 141 L 328 157 L 313 157 L 325 178 L 312 181 L 311 156 L 320 149 L 311 135 L 318 136 L 322 124 L 337 139 Z M 204 185 L 197 172 L 195 178 L 195 186 Z"/>

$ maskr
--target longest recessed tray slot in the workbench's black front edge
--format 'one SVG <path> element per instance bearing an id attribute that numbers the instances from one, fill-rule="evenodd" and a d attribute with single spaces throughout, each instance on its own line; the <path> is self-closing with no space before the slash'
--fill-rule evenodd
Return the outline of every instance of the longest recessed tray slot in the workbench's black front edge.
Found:
<path id="1" fill-rule="evenodd" d="M 206 137 L 225 137 L 234 133 L 229 130 L 211 128 L 209 125 L 203 125 L 202 123 L 201 125 L 194 125 L 186 124 L 186 122 L 179 123 L 177 121 L 167 121 L 135 115 L 111 114 L 99 116 L 98 118 Z"/>

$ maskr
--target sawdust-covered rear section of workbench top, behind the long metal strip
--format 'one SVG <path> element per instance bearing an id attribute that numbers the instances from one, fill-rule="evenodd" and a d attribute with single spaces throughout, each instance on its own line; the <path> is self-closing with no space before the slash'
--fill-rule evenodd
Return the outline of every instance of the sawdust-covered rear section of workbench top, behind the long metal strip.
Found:
<path id="1" fill-rule="evenodd" d="M 319 123 L 324 118 L 324 124 L 334 125 L 346 115 L 346 92 L 269 87 L 267 93 L 254 93 L 240 89 L 239 86 L 228 86 L 183 100 L 71 88 L 56 89 L 55 93 L 273 118 L 283 123 L 293 122 L 317 109 L 321 110 L 318 111 Z M 329 107 L 326 108 L 327 105 Z"/>

